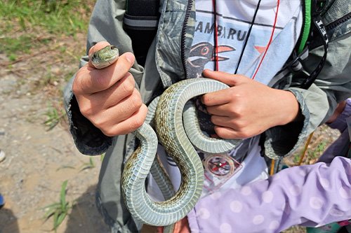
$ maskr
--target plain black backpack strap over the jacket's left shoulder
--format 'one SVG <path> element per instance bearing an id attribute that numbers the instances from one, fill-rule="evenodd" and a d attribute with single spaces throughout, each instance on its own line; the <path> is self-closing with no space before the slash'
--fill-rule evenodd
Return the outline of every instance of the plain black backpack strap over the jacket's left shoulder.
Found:
<path id="1" fill-rule="evenodd" d="M 135 59 L 142 66 L 157 33 L 158 23 L 159 0 L 127 0 L 123 26 L 131 37 Z"/>

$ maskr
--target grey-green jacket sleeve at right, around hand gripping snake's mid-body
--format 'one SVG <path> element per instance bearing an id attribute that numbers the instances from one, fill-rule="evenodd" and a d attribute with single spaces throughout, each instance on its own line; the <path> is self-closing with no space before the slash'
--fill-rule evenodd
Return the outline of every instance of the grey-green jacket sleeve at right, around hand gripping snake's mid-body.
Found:
<path id="1" fill-rule="evenodd" d="M 312 71 L 323 56 L 323 48 L 315 48 L 305 62 Z M 303 120 L 268 129 L 265 134 L 265 154 L 277 158 L 291 153 L 300 146 L 311 132 L 322 125 L 333 114 L 338 102 L 351 95 L 351 33 L 340 36 L 329 43 L 328 56 L 317 80 L 308 89 L 298 87 L 301 83 L 294 78 L 292 92 L 300 104 Z"/>

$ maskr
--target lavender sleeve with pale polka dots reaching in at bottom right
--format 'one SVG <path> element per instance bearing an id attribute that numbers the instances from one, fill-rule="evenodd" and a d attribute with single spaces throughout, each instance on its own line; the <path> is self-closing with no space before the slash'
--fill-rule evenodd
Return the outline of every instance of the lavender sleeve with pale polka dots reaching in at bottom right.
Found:
<path id="1" fill-rule="evenodd" d="M 351 161 L 284 169 L 267 180 L 201 199 L 188 214 L 192 232 L 280 232 L 351 218 Z"/>

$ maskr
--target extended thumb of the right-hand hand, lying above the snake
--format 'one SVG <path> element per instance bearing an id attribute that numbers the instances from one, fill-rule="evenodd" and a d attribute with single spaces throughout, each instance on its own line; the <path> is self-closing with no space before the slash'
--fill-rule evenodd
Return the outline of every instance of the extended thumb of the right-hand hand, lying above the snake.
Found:
<path id="1" fill-rule="evenodd" d="M 202 76 L 205 78 L 218 80 L 230 87 L 250 80 L 250 78 L 247 78 L 246 76 L 242 76 L 240 74 L 225 73 L 222 71 L 211 71 L 211 69 L 205 69 L 204 72 L 202 72 Z"/>

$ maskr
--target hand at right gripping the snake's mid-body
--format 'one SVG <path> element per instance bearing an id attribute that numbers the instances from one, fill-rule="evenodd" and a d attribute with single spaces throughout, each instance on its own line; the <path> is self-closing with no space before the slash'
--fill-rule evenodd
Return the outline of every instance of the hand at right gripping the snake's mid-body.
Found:
<path id="1" fill-rule="evenodd" d="M 230 86 L 201 97 L 211 114 L 216 134 L 223 139 L 256 136 L 271 127 L 286 125 L 299 115 L 298 101 L 289 91 L 221 71 L 205 69 L 203 76 Z"/>

